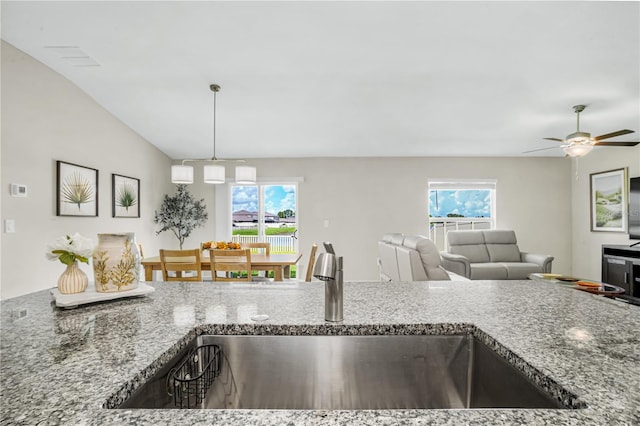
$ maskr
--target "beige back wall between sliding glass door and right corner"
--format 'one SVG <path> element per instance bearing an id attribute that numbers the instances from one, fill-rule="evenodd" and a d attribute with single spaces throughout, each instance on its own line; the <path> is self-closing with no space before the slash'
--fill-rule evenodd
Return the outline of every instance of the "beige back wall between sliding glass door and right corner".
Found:
<path id="1" fill-rule="evenodd" d="M 312 243 L 332 241 L 344 256 L 345 279 L 378 279 L 382 234 L 427 235 L 429 179 L 481 178 L 497 180 L 498 228 L 515 229 L 523 251 L 555 256 L 554 271 L 571 272 L 571 166 L 565 158 L 302 158 L 249 164 L 257 166 L 259 178 L 304 178 L 298 194 L 302 269 Z M 224 211 L 220 203 L 216 209 Z"/>

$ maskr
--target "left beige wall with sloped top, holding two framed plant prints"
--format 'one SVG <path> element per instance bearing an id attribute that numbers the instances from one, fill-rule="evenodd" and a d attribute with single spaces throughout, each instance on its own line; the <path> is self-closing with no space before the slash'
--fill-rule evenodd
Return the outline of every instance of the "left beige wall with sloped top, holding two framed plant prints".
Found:
<path id="1" fill-rule="evenodd" d="M 64 77 L 5 42 L 1 136 L 2 221 L 15 220 L 16 233 L 2 233 L 0 298 L 54 287 L 65 266 L 47 260 L 45 249 L 65 234 L 97 240 L 98 233 L 135 232 L 148 253 L 177 247 L 174 237 L 156 236 L 153 223 L 162 196 L 174 191 L 169 158 Z M 56 160 L 99 170 L 98 217 L 56 216 Z M 111 217 L 112 173 L 140 179 L 141 218 Z M 10 183 L 27 185 L 29 196 L 10 197 Z"/>

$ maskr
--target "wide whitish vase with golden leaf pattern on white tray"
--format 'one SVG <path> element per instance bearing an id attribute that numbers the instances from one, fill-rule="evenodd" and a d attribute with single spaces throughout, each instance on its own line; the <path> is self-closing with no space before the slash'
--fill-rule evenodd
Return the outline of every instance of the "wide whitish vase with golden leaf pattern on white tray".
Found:
<path id="1" fill-rule="evenodd" d="M 98 234 L 98 245 L 93 251 L 93 275 L 99 293 L 138 287 L 140 250 L 135 234 Z"/>

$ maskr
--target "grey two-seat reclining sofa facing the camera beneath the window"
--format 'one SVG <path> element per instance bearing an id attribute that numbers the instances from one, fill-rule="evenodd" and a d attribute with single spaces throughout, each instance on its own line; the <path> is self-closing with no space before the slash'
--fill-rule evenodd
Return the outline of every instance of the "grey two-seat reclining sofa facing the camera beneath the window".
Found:
<path id="1" fill-rule="evenodd" d="M 551 272 L 553 257 L 521 252 L 512 230 L 449 231 L 442 265 L 472 280 L 523 280 Z"/>

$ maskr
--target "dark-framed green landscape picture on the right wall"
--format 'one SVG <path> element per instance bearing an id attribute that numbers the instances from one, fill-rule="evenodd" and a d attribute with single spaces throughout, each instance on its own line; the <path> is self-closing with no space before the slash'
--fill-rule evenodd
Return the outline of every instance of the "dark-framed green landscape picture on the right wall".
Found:
<path id="1" fill-rule="evenodd" d="M 591 173 L 591 232 L 627 232 L 627 168 Z"/>

